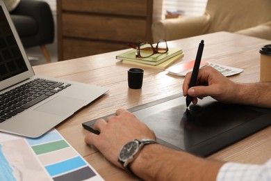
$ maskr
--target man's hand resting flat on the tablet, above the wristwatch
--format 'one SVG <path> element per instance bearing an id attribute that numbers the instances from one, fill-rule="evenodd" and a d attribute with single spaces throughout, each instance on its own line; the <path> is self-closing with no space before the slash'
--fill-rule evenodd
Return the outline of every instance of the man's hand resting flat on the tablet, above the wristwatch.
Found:
<path id="1" fill-rule="evenodd" d="M 85 136 L 85 143 L 95 145 L 110 162 L 121 168 L 117 157 L 124 144 L 133 139 L 156 139 L 147 125 L 124 109 L 117 109 L 115 116 L 106 120 L 97 120 L 93 128 L 99 130 L 100 134 L 88 134 Z"/>

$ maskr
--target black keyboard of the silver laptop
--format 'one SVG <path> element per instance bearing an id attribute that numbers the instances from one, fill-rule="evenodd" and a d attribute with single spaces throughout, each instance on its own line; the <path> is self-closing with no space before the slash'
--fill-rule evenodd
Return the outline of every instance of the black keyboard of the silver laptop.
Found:
<path id="1" fill-rule="evenodd" d="M 0 123 L 32 107 L 71 84 L 34 79 L 0 95 Z"/>

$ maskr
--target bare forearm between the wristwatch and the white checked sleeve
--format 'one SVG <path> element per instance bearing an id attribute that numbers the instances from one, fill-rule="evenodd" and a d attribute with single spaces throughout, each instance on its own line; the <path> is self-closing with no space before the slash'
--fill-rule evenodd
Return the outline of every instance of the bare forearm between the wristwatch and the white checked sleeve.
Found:
<path id="1" fill-rule="evenodd" d="M 151 144 L 143 148 L 131 169 L 143 180 L 215 180 L 222 164 Z"/>

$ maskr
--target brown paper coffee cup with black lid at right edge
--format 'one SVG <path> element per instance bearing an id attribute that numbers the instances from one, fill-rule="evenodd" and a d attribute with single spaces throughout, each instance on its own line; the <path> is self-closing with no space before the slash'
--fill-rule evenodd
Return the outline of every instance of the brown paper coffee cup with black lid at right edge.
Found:
<path id="1" fill-rule="evenodd" d="M 260 81 L 271 81 L 271 45 L 265 45 L 259 52 L 261 54 Z"/>

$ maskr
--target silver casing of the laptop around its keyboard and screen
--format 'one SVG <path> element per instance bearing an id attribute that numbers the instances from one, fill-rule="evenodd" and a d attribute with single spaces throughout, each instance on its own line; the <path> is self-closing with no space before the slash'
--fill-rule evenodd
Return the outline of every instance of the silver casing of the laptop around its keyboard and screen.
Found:
<path id="1" fill-rule="evenodd" d="M 49 79 L 52 81 L 64 82 L 65 84 L 71 84 L 71 86 L 63 89 L 63 91 L 52 95 L 44 101 L 35 104 L 33 107 L 22 111 L 22 113 L 19 113 L 8 120 L 4 120 L 0 123 L 1 132 L 32 138 L 42 136 L 42 134 L 48 132 L 63 120 L 72 116 L 76 111 L 85 107 L 85 105 L 90 104 L 90 102 L 96 100 L 108 91 L 108 88 L 101 86 L 55 79 L 51 77 L 36 76 L 30 62 L 28 61 L 22 42 L 19 39 L 15 26 L 10 18 L 10 14 L 2 0 L 0 0 L 0 6 L 6 16 L 6 20 L 8 21 L 12 34 L 19 47 L 19 52 L 22 54 L 22 58 L 24 59 L 24 63 L 26 63 L 27 67 L 26 71 L 0 81 L 0 94 L 9 91 L 15 86 L 24 84 L 26 81 L 36 79 L 37 77 L 39 79 Z"/>

